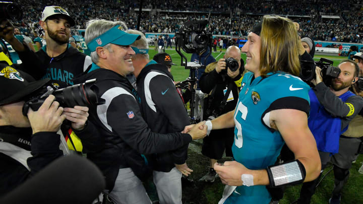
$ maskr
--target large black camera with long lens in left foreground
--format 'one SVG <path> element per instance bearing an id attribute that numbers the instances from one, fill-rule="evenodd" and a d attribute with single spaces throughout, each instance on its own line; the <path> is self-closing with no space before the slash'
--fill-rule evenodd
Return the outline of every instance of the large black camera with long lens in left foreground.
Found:
<path id="1" fill-rule="evenodd" d="M 26 100 L 23 106 L 23 115 L 27 116 L 29 107 L 37 111 L 49 95 L 55 96 L 55 101 L 59 106 L 90 106 L 105 103 L 104 99 L 98 98 L 98 87 L 95 85 L 96 79 L 88 80 L 83 84 L 76 84 L 70 87 L 56 90 L 51 84 L 46 84 Z"/>

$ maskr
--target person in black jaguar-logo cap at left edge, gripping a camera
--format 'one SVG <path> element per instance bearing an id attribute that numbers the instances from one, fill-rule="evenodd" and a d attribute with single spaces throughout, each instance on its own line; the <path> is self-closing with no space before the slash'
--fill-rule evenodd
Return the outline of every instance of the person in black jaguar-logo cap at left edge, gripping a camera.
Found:
<path id="1" fill-rule="evenodd" d="M 54 96 L 48 96 L 38 111 L 22 113 L 26 98 L 48 82 L 0 64 L 0 197 L 63 156 L 56 132 L 66 115 Z"/>

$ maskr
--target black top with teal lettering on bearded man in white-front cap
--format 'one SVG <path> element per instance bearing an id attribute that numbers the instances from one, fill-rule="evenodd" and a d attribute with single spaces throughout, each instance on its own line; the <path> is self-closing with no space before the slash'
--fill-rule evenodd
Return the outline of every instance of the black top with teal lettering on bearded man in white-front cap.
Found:
<path id="1" fill-rule="evenodd" d="M 59 88 L 74 85 L 73 79 L 80 76 L 92 64 L 91 57 L 68 45 L 61 55 L 49 57 L 44 49 L 37 52 L 29 50 L 18 52 L 23 61 L 24 71 L 35 80 L 49 78 Z M 57 88 L 57 87 L 56 87 Z"/>

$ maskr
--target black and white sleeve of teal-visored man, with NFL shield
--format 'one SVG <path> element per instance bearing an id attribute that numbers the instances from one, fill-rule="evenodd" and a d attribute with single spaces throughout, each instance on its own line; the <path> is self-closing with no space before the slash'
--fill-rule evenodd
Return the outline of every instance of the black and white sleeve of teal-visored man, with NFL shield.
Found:
<path id="1" fill-rule="evenodd" d="M 105 99 L 105 104 L 97 106 L 98 118 L 141 154 L 175 150 L 192 141 L 190 134 L 152 132 L 142 117 L 134 95 L 122 87 L 109 89 L 101 98 Z"/>

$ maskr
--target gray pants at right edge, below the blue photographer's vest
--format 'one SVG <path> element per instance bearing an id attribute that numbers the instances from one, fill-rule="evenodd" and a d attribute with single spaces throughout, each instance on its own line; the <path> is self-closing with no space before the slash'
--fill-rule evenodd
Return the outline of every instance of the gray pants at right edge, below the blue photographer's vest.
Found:
<path id="1" fill-rule="evenodd" d="M 333 195 L 339 195 L 343 186 L 349 178 L 349 169 L 352 161 L 356 159 L 356 154 L 360 144 L 359 138 L 340 138 L 339 153 L 332 156 L 334 164 L 334 189 Z"/>

